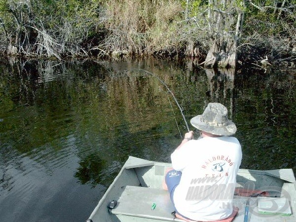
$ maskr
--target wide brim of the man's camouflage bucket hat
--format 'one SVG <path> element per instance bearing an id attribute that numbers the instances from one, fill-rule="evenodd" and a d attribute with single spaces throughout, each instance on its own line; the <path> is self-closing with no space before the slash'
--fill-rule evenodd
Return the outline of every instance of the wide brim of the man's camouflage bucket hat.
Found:
<path id="1" fill-rule="evenodd" d="M 230 120 L 227 121 L 225 126 L 211 126 L 202 122 L 200 117 L 201 115 L 197 115 L 190 119 L 191 125 L 196 129 L 219 136 L 231 136 L 236 132 L 236 126 Z"/>

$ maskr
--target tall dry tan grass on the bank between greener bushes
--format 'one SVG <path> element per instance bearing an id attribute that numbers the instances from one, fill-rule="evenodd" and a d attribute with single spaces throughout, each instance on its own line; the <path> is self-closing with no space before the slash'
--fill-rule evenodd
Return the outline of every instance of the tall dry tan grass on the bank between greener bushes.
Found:
<path id="1" fill-rule="evenodd" d="M 172 37 L 176 39 L 178 30 L 173 21 L 182 11 L 178 1 L 110 0 L 106 4 L 106 51 L 149 55 L 175 45 Z"/>

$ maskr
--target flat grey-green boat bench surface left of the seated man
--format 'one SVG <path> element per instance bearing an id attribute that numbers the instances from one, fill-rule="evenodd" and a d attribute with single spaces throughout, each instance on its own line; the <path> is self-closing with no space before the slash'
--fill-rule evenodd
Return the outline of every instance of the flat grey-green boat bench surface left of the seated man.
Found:
<path id="1" fill-rule="evenodd" d="M 152 204 L 156 204 L 152 211 Z M 174 206 L 171 203 L 169 192 L 141 186 L 125 186 L 117 205 L 110 210 L 119 221 L 173 221 Z M 138 217 L 139 220 L 131 220 Z M 130 220 L 129 220 L 130 219 Z M 175 218 L 175 222 L 184 222 Z"/>

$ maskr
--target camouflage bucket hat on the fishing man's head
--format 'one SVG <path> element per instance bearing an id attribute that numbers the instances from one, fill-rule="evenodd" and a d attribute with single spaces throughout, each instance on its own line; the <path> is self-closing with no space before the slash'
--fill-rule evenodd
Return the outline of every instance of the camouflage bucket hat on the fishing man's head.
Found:
<path id="1" fill-rule="evenodd" d="M 195 128 L 220 136 L 235 134 L 235 124 L 227 118 L 227 108 L 220 103 L 209 103 L 202 115 L 197 115 L 190 120 Z"/>

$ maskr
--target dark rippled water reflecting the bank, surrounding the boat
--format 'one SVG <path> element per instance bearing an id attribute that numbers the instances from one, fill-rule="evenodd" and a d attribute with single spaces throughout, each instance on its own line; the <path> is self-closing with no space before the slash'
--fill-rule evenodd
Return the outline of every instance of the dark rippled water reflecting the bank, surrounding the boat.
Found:
<path id="1" fill-rule="evenodd" d="M 241 168 L 296 172 L 295 71 L 11 62 L 0 65 L 1 222 L 83 222 L 129 155 L 170 161 L 185 121 L 157 78 L 119 73 L 132 68 L 159 76 L 187 122 L 223 103 L 238 128 Z"/>

